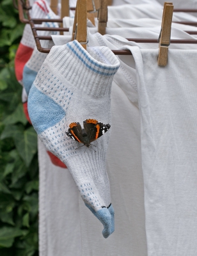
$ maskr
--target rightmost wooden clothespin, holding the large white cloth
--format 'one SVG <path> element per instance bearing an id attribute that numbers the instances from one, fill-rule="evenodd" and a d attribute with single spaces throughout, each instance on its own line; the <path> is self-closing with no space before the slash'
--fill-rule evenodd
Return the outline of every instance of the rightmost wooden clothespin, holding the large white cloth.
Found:
<path id="1" fill-rule="evenodd" d="M 171 21 L 173 17 L 173 3 L 165 2 L 162 15 L 161 33 L 159 35 L 158 65 L 166 66 L 168 60 L 168 46 L 171 36 Z"/>

